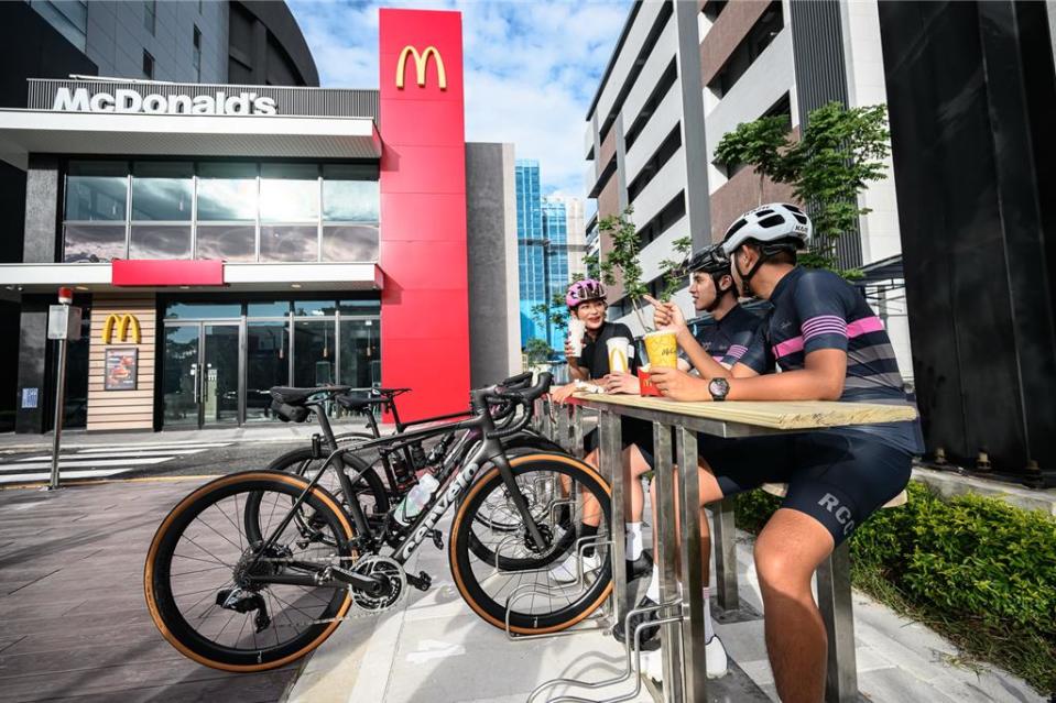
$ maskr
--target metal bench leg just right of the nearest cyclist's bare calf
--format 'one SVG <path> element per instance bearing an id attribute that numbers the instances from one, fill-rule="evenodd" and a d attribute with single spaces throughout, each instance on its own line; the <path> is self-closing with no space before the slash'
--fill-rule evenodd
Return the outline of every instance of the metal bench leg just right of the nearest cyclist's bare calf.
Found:
<path id="1" fill-rule="evenodd" d="M 818 608 L 825 620 L 829 651 L 825 677 L 826 703 L 858 700 L 854 614 L 851 604 L 850 548 L 845 541 L 817 571 Z"/>

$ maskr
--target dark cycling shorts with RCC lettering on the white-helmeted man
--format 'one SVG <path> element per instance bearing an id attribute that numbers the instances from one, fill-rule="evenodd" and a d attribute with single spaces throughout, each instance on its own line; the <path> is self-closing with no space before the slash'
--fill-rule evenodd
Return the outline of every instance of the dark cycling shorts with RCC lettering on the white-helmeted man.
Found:
<path id="1" fill-rule="evenodd" d="M 723 496 L 787 483 L 781 507 L 821 523 L 837 545 L 910 481 L 912 457 L 861 435 L 809 432 L 744 439 L 699 435 Z"/>

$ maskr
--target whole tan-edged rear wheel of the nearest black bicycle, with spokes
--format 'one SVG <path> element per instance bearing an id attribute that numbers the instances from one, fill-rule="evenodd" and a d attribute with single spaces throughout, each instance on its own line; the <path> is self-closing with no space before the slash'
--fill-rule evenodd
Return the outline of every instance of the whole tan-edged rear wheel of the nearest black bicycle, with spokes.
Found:
<path id="1" fill-rule="evenodd" d="M 334 496 L 314 487 L 305 510 L 325 540 L 306 540 L 293 521 L 273 546 L 243 530 L 246 499 L 263 495 L 270 536 L 282 506 L 308 483 L 290 474 L 251 471 L 207 483 L 181 501 L 151 542 L 143 586 L 151 617 L 186 657 L 225 671 L 263 671 L 294 661 L 330 636 L 351 605 L 347 587 L 260 584 L 253 578 L 312 576 L 348 565 L 352 526 Z"/>

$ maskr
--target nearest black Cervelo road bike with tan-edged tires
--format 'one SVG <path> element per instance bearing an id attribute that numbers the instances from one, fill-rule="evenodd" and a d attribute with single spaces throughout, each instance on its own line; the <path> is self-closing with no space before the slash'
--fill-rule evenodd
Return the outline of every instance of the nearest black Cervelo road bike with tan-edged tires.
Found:
<path id="1" fill-rule="evenodd" d="M 176 649 L 203 664 L 247 672 L 284 666 L 352 613 L 385 611 L 409 586 L 427 590 L 432 578 L 407 573 L 405 564 L 426 541 L 443 549 L 436 526 L 454 508 L 448 561 L 473 612 L 522 635 L 579 623 L 611 592 L 605 529 L 597 542 L 600 570 L 555 585 L 548 569 L 581 549 L 576 526 L 591 517 L 585 510 L 599 510 L 600 524 L 609 524 L 609 485 L 567 454 L 511 458 L 501 442 L 529 424 L 548 385 L 543 374 L 529 388 L 473 391 L 469 418 L 336 449 L 327 471 L 312 479 L 248 471 L 197 488 L 151 542 L 144 569 L 151 617 Z M 324 403 L 316 399 L 319 388 L 274 388 L 272 395 L 273 407 L 291 419 L 306 419 L 309 407 L 318 414 Z M 325 473 L 336 473 L 345 494 L 356 495 L 369 466 L 353 472 L 329 460 L 453 431 L 457 439 L 435 473 L 439 487 L 410 525 L 394 520 L 391 509 L 370 514 L 360 501 L 341 502 L 319 485 Z"/>

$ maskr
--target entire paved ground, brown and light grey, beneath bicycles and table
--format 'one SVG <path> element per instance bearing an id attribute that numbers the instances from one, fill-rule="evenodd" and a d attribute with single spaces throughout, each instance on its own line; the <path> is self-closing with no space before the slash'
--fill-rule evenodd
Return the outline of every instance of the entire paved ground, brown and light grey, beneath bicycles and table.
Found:
<path id="1" fill-rule="evenodd" d="M 469 612 L 450 582 L 446 554 L 432 546 L 413 565 L 433 574 L 427 593 L 412 591 L 383 616 L 344 623 L 300 670 L 225 674 L 195 664 L 151 623 L 142 569 L 157 524 L 198 483 L 0 492 L 2 700 L 276 701 L 285 694 L 312 703 L 512 703 L 544 680 L 596 680 L 622 664 L 622 648 L 601 631 L 507 641 Z M 758 612 L 747 535 L 739 562 L 742 597 Z M 1006 673 L 954 666 L 951 645 L 866 596 L 856 594 L 854 614 L 859 684 L 870 701 L 1044 701 Z M 710 697 L 775 699 L 762 620 L 720 623 L 717 631 L 737 667 L 711 686 Z M 567 692 L 600 699 L 631 689 Z M 642 691 L 635 700 L 650 699 Z"/>

